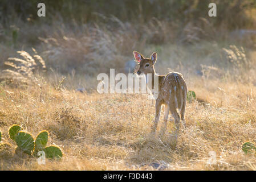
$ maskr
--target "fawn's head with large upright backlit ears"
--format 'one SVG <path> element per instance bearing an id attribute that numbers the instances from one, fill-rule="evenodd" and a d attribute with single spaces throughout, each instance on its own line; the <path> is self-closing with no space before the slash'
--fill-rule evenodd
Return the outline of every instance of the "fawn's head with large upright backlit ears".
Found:
<path id="1" fill-rule="evenodd" d="M 137 74 L 147 74 L 147 73 L 155 73 L 154 64 L 156 63 L 156 52 L 153 52 L 150 56 L 151 58 L 144 58 L 141 53 L 137 51 L 133 51 L 133 56 L 135 57 L 135 60 L 139 62 L 140 68 L 137 71 Z"/>

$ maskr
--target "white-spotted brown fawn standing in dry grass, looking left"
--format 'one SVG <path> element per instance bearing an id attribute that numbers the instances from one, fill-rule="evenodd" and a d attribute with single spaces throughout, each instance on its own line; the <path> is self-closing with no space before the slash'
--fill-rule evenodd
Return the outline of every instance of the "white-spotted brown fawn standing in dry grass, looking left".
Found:
<path id="1" fill-rule="evenodd" d="M 167 75 L 156 75 L 154 65 L 157 60 L 156 52 L 153 52 L 150 59 L 145 58 L 141 53 L 133 51 L 133 55 L 136 61 L 139 62 L 140 68 L 137 71 L 137 75 L 151 73 L 152 75 L 152 91 L 154 90 L 154 76 L 159 79 L 159 93 L 156 98 L 156 116 L 155 116 L 155 125 L 153 125 L 153 132 L 156 131 L 157 123 L 159 122 L 161 105 L 165 105 L 164 113 L 164 127 L 162 127 L 161 133 L 164 134 L 167 126 L 167 120 L 169 111 L 172 113 L 175 123 L 176 137 L 177 132 L 180 128 L 180 118 L 184 121 L 185 107 L 186 107 L 186 82 L 181 75 L 181 73 L 170 72 Z M 147 83 L 148 84 L 148 83 Z M 177 109 L 180 110 L 180 115 L 177 112 Z"/>

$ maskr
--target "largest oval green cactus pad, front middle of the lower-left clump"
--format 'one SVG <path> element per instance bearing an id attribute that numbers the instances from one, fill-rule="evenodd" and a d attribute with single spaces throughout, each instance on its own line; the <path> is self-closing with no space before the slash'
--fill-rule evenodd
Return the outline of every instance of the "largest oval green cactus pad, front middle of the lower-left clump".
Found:
<path id="1" fill-rule="evenodd" d="M 35 142 L 31 134 L 19 131 L 15 136 L 15 142 L 22 152 L 31 155 L 34 150 Z"/>

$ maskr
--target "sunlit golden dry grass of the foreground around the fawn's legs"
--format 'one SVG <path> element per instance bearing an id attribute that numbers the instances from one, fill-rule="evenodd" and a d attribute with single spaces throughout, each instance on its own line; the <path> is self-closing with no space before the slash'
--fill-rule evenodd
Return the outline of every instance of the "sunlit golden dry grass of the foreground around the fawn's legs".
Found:
<path id="1" fill-rule="evenodd" d="M 201 77 L 186 80 L 198 101 L 186 107 L 187 127 L 182 127 L 176 146 L 169 135 L 171 115 L 164 138 L 150 134 L 155 101 L 146 95 L 80 93 L 46 82 L 27 88 L 2 84 L 0 129 L 13 154 L 0 159 L 0 169 L 132 170 L 153 169 L 149 165 L 159 162 L 169 170 L 255 170 L 256 156 L 245 155 L 241 145 L 256 142 L 256 86 Z M 8 136 L 13 124 L 34 136 L 48 130 L 48 143 L 62 148 L 63 160 L 47 160 L 44 166 L 14 154 Z M 207 163 L 210 151 L 217 154 L 216 165 Z"/>

